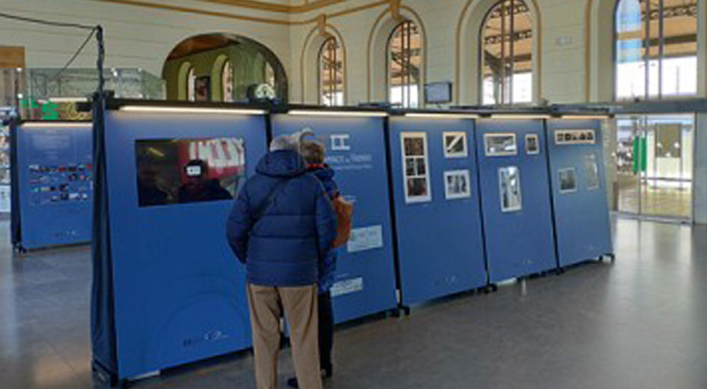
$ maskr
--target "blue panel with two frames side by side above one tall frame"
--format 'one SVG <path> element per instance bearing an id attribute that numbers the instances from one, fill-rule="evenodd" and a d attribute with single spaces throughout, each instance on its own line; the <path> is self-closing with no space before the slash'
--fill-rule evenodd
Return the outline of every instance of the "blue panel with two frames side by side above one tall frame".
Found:
<path id="1" fill-rule="evenodd" d="M 477 153 L 491 282 L 556 269 L 542 120 L 479 120 Z"/>

